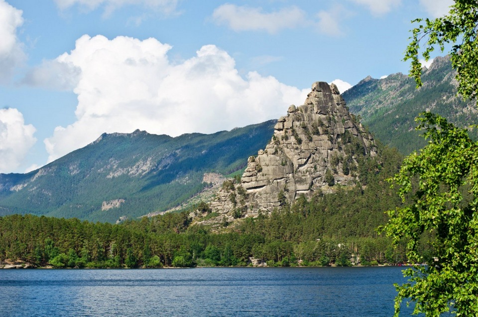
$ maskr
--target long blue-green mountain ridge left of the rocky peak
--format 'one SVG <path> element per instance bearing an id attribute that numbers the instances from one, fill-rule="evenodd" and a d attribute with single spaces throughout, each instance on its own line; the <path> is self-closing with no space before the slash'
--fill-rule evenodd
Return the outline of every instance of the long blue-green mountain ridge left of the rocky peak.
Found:
<path id="1" fill-rule="evenodd" d="M 103 134 L 40 169 L 0 174 L 0 216 L 115 222 L 175 207 L 209 186 L 211 172 L 243 169 L 269 141 L 275 123 L 176 138 L 139 130 Z"/>

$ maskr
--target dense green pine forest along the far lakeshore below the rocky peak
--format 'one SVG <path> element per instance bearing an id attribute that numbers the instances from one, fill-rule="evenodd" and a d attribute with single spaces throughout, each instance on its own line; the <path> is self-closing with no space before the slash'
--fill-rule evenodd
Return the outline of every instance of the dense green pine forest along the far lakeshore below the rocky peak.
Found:
<path id="1" fill-rule="evenodd" d="M 384 211 L 401 203 L 385 179 L 402 157 L 388 148 L 378 157 L 362 162 L 353 187 L 336 185 L 333 194 L 302 196 L 270 216 L 224 221 L 219 230 L 192 224 L 191 210 L 121 224 L 3 216 L 0 261 L 88 268 L 246 266 L 250 257 L 269 266 L 406 263 L 405 242 L 393 248 L 376 231 Z"/>

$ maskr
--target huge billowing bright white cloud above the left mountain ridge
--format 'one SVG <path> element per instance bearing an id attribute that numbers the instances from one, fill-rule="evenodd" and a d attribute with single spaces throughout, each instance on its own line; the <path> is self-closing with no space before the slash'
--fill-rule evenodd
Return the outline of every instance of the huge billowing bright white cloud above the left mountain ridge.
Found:
<path id="1" fill-rule="evenodd" d="M 303 102 L 309 92 L 256 72 L 244 79 L 235 60 L 214 45 L 201 47 L 179 64 L 168 60 L 169 49 L 154 38 L 84 35 L 74 50 L 52 61 L 81 71 L 73 90 L 78 95 L 77 121 L 57 127 L 45 139 L 49 161 L 104 132 L 141 129 L 178 136 L 263 122 L 284 115 L 290 104 Z M 67 78 L 71 67 L 58 69 L 66 73 L 55 80 Z"/>

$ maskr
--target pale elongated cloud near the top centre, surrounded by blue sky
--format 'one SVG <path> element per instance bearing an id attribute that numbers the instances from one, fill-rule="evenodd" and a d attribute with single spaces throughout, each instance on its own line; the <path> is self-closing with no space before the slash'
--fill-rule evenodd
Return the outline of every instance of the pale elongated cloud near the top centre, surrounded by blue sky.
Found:
<path id="1" fill-rule="evenodd" d="M 237 6 L 226 3 L 217 7 L 213 19 L 235 31 L 264 30 L 277 33 L 281 29 L 294 28 L 305 23 L 305 12 L 297 6 L 278 11 L 263 12 L 260 7 Z"/>

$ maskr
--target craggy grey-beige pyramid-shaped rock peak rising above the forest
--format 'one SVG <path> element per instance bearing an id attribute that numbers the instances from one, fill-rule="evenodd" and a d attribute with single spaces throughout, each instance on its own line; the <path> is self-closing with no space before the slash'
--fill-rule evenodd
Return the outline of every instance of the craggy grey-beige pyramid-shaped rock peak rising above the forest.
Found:
<path id="1" fill-rule="evenodd" d="M 335 84 L 314 83 L 305 103 L 291 105 L 274 129 L 265 149 L 249 157 L 240 182 L 225 182 L 211 202 L 223 218 L 255 216 L 300 194 L 353 184 L 359 160 L 376 155 L 372 136 L 349 113 Z"/>

